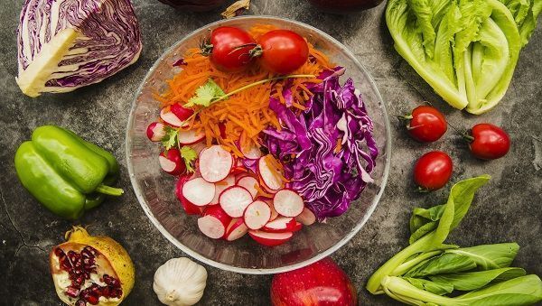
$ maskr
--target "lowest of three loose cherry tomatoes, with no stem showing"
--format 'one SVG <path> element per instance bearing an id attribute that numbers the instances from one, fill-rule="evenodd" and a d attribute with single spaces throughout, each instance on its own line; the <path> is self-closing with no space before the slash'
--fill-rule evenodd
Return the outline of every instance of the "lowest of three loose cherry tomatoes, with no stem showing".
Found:
<path id="1" fill-rule="evenodd" d="M 450 181 L 453 163 L 442 151 L 425 153 L 414 165 L 414 181 L 423 190 L 438 190 Z"/>

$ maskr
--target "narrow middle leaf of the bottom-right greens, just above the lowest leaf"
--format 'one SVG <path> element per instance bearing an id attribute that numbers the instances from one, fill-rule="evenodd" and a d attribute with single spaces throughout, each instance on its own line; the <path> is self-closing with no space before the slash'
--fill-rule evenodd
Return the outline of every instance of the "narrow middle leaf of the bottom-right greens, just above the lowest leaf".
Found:
<path id="1" fill-rule="evenodd" d="M 466 272 L 461 274 L 432 275 L 429 279 L 435 283 L 452 284 L 454 290 L 472 291 L 489 283 L 499 283 L 524 276 L 521 268 L 500 268 L 488 271 Z"/>

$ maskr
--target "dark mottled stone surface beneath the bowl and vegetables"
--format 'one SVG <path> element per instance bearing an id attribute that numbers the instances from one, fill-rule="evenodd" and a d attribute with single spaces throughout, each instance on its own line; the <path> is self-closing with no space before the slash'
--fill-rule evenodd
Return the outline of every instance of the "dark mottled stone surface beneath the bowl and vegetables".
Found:
<path id="1" fill-rule="evenodd" d="M 64 125 L 111 150 L 121 164 L 120 185 L 126 195 L 110 200 L 80 222 L 92 233 L 117 239 L 132 255 L 136 268 L 135 289 L 128 305 L 159 304 L 152 290 L 155 269 L 182 252 L 162 236 L 139 206 L 131 190 L 125 161 L 125 126 L 135 89 L 154 60 L 173 42 L 206 23 L 219 12 L 176 12 L 155 0 L 135 0 L 141 23 L 144 51 L 134 66 L 102 83 L 65 95 L 25 97 L 15 84 L 17 73 L 15 29 L 23 0 L 5 1 L 0 8 L 0 304 L 60 304 L 48 268 L 52 245 L 63 239 L 71 223 L 51 215 L 17 181 L 13 158 L 34 127 Z M 515 265 L 542 275 L 542 31 L 540 26 L 520 54 L 509 92 L 499 107 L 483 116 L 470 116 L 447 107 L 393 50 L 383 17 L 385 5 L 347 16 L 322 14 L 303 1 L 254 0 L 249 14 L 269 14 L 295 19 L 332 34 L 350 48 L 372 74 L 388 105 L 392 122 L 393 162 L 390 180 L 378 208 L 350 243 L 332 257 L 348 271 L 367 305 L 392 303 L 386 297 L 369 296 L 363 287 L 369 275 L 406 246 L 407 218 L 418 205 L 444 201 L 446 191 L 415 193 L 411 167 L 421 153 L 441 149 L 452 155 L 453 181 L 489 173 L 493 177 L 480 191 L 463 224 L 449 241 L 474 246 L 517 241 L 521 246 Z M 510 134 L 512 149 L 494 162 L 474 160 L 450 131 L 441 141 L 426 145 L 410 140 L 394 119 L 420 101 L 443 109 L 460 128 L 479 122 L 502 125 Z M 449 186 L 448 186 L 449 187 Z M 448 188 L 444 189 L 447 190 Z M 263 305 L 268 303 L 270 276 L 233 274 L 207 266 L 210 277 L 201 305 Z"/>

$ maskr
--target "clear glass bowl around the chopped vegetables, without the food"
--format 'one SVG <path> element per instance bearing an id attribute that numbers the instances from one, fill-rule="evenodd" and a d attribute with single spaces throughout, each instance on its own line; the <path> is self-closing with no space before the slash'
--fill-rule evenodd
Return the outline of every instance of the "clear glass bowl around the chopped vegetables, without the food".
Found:
<path id="1" fill-rule="evenodd" d="M 150 142 L 145 134 L 147 125 L 156 120 L 160 110 L 159 102 L 154 100 L 153 94 L 167 88 L 166 80 L 179 71 L 173 69 L 173 63 L 181 59 L 187 49 L 198 46 L 201 37 L 209 29 L 221 25 L 248 29 L 257 23 L 271 23 L 298 32 L 317 49 L 324 51 L 332 62 L 346 67 L 345 76 L 341 80 L 350 77 L 356 88 L 360 89 L 369 116 L 374 121 L 379 150 L 377 167 L 372 173 L 375 182 L 369 184 L 360 199 L 351 204 L 347 213 L 338 218 L 328 218 L 325 224 L 304 227 L 292 240 L 275 247 L 259 246 L 248 235 L 229 243 L 201 234 L 197 218 L 186 215 L 175 198 L 175 178 L 160 169 L 159 145 Z M 376 208 L 386 186 L 390 145 L 388 115 L 378 89 L 369 73 L 341 42 L 304 23 L 270 16 L 245 16 L 210 23 L 175 43 L 156 60 L 132 105 L 126 129 L 126 162 L 135 195 L 142 208 L 154 226 L 173 245 L 195 259 L 220 269 L 242 274 L 276 274 L 298 269 L 331 255 L 360 231 Z"/>

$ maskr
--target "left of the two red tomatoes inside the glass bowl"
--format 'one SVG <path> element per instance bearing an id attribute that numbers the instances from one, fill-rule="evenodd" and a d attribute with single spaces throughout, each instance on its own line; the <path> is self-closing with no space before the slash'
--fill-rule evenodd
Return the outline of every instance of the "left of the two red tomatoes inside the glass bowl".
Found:
<path id="1" fill-rule="evenodd" d="M 256 46 L 247 31 L 232 26 L 220 26 L 210 32 L 210 41 L 201 52 L 210 56 L 210 63 L 224 72 L 247 69 L 253 58 L 250 51 Z"/>

